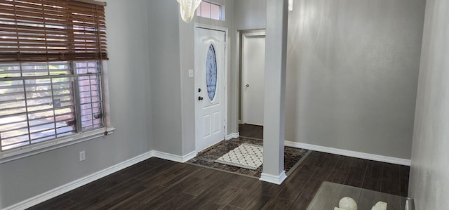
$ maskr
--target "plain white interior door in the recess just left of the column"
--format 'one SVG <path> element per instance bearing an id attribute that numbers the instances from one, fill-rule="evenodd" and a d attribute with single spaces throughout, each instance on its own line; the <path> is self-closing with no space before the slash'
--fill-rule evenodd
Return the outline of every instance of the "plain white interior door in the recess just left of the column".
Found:
<path id="1" fill-rule="evenodd" d="M 242 36 L 242 118 L 245 124 L 264 124 L 265 35 Z"/>

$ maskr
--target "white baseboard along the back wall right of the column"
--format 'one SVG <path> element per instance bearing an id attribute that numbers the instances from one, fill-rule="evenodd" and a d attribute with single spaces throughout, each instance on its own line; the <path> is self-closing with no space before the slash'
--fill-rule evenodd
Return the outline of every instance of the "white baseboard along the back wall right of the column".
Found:
<path id="1" fill-rule="evenodd" d="M 335 154 L 335 155 L 344 155 L 344 156 L 348 156 L 348 157 L 357 157 L 357 158 L 361 158 L 361 159 L 369 159 L 369 160 L 374 160 L 374 161 L 378 161 L 378 162 L 386 162 L 386 163 L 390 163 L 390 164 L 399 164 L 399 165 L 403 165 L 403 166 L 410 166 L 410 159 L 401 159 L 401 158 L 397 158 L 397 157 L 373 155 L 373 154 L 364 153 L 364 152 L 354 152 L 351 150 L 341 150 L 341 149 L 336 149 L 336 148 L 332 148 L 332 147 L 309 145 L 306 143 L 296 143 L 296 142 L 292 142 L 292 141 L 285 141 L 284 145 L 286 145 L 288 147 L 297 147 L 297 148 L 302 148 L 302 149 L 306 149 L 306 150 L 327 152 L 327 153 L 331 153 L 331 154 Z"/>

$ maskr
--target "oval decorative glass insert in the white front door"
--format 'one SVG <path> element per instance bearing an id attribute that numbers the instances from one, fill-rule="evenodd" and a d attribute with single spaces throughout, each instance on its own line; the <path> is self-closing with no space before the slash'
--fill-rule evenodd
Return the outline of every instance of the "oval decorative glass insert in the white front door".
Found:
<path id="1" fill-rule="evenodd" d="M 208 55 L 206 56 L 206 87 L 209 100 L 212 101 L 217 91 L 217 57 L 212 44 L 209 46 Z"/>

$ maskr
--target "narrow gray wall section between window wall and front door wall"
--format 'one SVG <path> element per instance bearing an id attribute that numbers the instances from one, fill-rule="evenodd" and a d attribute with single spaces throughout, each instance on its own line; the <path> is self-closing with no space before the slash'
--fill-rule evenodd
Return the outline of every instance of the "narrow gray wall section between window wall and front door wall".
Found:
<path id="1" fill-rule="evenodd" d="M 154 150 L 182 154 L 180 30 L 177 1 L 148 4 Z"/>

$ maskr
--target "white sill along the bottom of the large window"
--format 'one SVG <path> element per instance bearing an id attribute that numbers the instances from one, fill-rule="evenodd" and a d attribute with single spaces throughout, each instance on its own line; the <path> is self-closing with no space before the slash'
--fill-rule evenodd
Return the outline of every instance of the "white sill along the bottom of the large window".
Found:
<path id="1" fill-rule="evenodd" d="M 114 133 L 114 128 L 107 128 L 107 136 Z M 47 152 L 50 150 L 55 150 L 61 147 L 67 147 L 69 145 L 74 145 L 76 143 L 81 143 L 86 140 L 92 140 L 94 138 L 100 138 L 105 136 L 105 129 L 97 129 L 94 131 L 88 131 L 84 133 L 74 134 L 72 136 L 67 136 L 63 138 L 57 138 L 54 140 L 49 140 L 48 142 L 36 143 L 35 145 L 28 145 L 26 147 L 20 147 L 13 150 L 8 150 L 5 152 L 0 152 L 0 164 L 11 162 L 15 159 L 21 159 L 24 157 L 29 157 L 42 152 Z"/>

